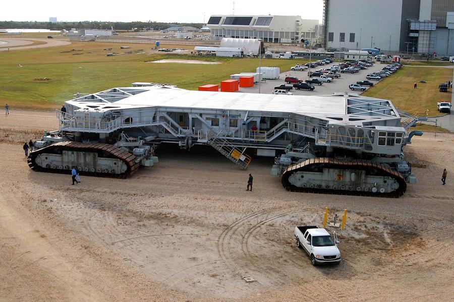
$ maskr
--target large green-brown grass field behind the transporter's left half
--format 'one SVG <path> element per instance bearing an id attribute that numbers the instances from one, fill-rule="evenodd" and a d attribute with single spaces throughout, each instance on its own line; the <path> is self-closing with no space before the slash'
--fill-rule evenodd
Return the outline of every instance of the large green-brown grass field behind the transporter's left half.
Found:
<path id="1" fill-rule="evenodd" d="M 0 52 L 0 102 L 10 108 L 56 109 L 73 94 L 94 93 L 132 82 L 156 82 L 196 90 L 230 74 L 255 72 L 258 59 L 150 54 L 150 44 L 76 42 L 62 47 Z M 170 45 L 169 45 L 170 46 Z M 111 50 L 108 50 L 112 48 Z M 140 49 L 143 49 L 145 53 Z M 132 53 L 125 53 L 132 51 Z M 105 56 L 108 52 L 119 55 Z M 151 63 L 162 58 L 216 60 L 221 64 Z M 262 66 L 286 70 L 304 60 L 262 59 Z M 19 64 L 22 66 L 20 67 Z M 39 79 L 41 78 L 41 79 Z M 42 81 L 47 78 L 47 81 Z"/>

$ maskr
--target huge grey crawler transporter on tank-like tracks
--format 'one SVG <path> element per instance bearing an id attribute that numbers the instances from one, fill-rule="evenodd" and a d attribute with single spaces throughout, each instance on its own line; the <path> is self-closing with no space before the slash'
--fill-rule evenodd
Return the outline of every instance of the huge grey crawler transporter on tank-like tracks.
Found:
<path id="1" fill-rule="evenodd" d="M 403 148 L 420 131 L 388 100 L 357 94 L 282 96 L 136 83 L 65 102 L 59 130 L 29 158 L 36 171 L 125 178 L 157 163 L 160 143 L 209 145 L 246 169 L 273 157 L 290 191 L 399 197 L 416 182 Z M 249 154 L 249 155 L 248 155 Z"/>

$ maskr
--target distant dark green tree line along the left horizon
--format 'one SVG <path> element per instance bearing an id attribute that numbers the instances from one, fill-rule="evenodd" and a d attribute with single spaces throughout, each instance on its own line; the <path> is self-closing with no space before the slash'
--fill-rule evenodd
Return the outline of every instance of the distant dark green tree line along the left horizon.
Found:
<path id="1" fill-rule="evenodd" d="M 62 29 L 95 29 L 103 28 L 113 30 L 132 30 L 133 28 L 146 28 L 154 30 L 163 30 L 171 26 L 192 26 L 201 28 L 202 23 L 164 23 L 155 21 L 135 21 L 135 22 L 108 22 L 108 21 L 83 21 L 83 22 L 38 22 L 38 21 L 0 21 L 0 29 L 7 28 L 33 28 L 33 29 L 50 29 L 50 30 L 62 30 Z"/>

